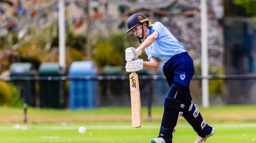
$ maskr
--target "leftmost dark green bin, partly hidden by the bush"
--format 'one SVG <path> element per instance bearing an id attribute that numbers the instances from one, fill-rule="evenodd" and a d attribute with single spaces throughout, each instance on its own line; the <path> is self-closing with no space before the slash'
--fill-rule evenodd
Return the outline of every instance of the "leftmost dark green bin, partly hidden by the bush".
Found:
<path id="1" fill-rule="evenodd" d="M 11 77 L 35 76 L 36 69 L 32 63 L 12 63 L 10 67 Z M 28 105 L 36 106 L 36 87 L 32 80 L 15 80 L 13 83 L 21 88 L 21 99 Z"/>

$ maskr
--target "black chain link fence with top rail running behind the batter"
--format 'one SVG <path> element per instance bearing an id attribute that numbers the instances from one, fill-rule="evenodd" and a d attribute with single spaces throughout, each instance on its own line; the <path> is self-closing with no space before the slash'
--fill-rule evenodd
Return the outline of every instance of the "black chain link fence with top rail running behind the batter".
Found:
<path id="1" fill-rule="evenodd" d="M 202 76 L 190 85 L 192 102 L 206 121 L 256 120 L 256 76 L 206 78 L 207 108 L 200 107 Z M 139 85 L 142 121 L 161 121 L 169 89 L 165 77 L 139 76 Z M 0 123 L 131 121 L 129 76 L 8 77 L 0 79 L 0 87 Z"/>

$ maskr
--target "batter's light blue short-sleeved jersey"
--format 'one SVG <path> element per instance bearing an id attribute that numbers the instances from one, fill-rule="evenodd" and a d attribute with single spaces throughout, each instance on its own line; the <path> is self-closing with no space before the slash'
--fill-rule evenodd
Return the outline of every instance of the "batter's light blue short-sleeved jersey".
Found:
<path id="1" fill-rule="evenodd" d="M 172 56 L 186 51 L 184 46 L 160 22 L 152 24 L 149 35 L 154 31 L 157 31 L 159 35 L 157 39 L 145 49 L 148 60 L 154 57 L 166 63 Z"/>

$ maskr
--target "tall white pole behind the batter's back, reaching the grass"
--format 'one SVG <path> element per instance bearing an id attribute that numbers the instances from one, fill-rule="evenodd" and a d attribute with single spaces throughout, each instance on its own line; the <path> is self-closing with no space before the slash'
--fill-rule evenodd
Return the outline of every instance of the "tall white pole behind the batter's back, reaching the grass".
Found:
<path id="1" fill-rule="evenodd" d="M 207 0 L 201 0 L 201 62 L 202 62 L 202 106 L 209 106 L 208 47 L 207 47 Z"/>

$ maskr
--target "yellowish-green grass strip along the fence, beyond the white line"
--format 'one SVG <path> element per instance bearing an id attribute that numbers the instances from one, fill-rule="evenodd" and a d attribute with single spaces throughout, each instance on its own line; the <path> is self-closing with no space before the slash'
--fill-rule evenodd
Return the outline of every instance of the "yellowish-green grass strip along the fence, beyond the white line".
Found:
<path id="1" fill-rule="evenodd" d="M 256 105 L 215 105 L 199 107 L 206 121 L 256 121 Z M 40 109 L 28 107 L 28 123 L 94 123 L 131 120 L 131 107 L 100 107 L 90 110 Z M 0 107 L 0 123 L 22 123 L 23 109 Z M 161 121 L 163 107 L 152 107 L 151 120 Z M 142 107 L 142 121 L 148 121 L 148 109 Z"/>

